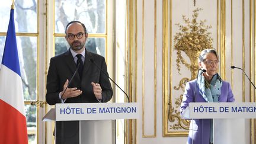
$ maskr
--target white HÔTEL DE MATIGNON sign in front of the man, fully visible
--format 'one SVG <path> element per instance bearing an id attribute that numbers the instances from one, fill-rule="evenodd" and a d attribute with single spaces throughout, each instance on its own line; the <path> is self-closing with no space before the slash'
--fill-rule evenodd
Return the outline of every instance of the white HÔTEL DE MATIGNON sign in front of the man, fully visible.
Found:
<path id="1" fill-rule="evenodd" d="M 137 103 L 56 104 L 56 121 L 138 119 Z"/>

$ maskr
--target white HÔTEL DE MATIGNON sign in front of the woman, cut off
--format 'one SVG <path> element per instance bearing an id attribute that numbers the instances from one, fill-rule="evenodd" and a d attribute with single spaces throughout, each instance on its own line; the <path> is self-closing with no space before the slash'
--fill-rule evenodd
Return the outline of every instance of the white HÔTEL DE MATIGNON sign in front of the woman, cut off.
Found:
<path id="1" fill-rule="evenodd" d="M 190 119 L 255 119 L 256 103 L 190 103 Z"/>

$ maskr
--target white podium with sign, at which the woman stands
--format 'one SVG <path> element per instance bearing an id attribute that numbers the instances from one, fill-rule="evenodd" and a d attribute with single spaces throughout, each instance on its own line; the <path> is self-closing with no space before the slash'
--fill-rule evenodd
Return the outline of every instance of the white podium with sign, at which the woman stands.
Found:
<path id="1" fill-rule="evenodd" d="M 213 143 L 247 143 L 246 119 L 256 118 L 256 103 L 190 103 L 184 119 L 213 119 Z"/>

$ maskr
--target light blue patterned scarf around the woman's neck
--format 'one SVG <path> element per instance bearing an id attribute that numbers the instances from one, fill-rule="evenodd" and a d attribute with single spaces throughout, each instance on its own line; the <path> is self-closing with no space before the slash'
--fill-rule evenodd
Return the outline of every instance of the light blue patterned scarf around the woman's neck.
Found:
<path id="1" fill-rule="evenodd" d="M 209 83 L 203 76 L 203 72 L 200 71 L 197 84 L 199 84 L 200 94 L 203 95 L 204 100 L 208 103 L 218 103 L 220 96 L 220 88 L 222 87 L 222 79 L 219 74 L 216 73 L 212 81 Z M 213 120 L 210 124 L 210 142 L 213 142 Z"/>

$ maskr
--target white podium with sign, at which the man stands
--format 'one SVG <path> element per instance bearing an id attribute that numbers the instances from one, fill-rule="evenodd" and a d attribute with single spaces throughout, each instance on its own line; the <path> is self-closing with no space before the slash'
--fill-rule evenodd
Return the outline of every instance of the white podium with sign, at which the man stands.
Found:
<path id="1" fill-rule="evenodd" d="M 116 119 L 138 118 L 137 103 L 65 103 L 56 104 L 56 108 L 52 108 L 43 121 L 79 121 L 79 143 L 100 144 L 115 143 L 112 125 Z M 63 135 L 63 132 L 56 132 L 55 129 L 55 136 L 56 133 Z"/>

